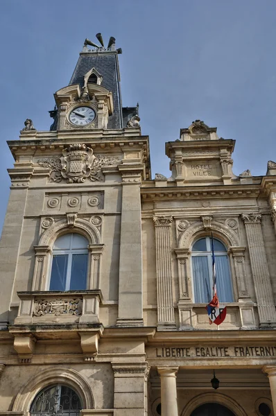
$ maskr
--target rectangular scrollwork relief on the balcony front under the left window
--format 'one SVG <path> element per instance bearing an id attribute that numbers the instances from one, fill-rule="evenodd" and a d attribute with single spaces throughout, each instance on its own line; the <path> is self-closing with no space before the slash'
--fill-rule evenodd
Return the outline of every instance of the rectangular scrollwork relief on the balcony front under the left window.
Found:
<path id="1" fill-rule="evenodd" d="M 44 315 L 81 315 L 83 301 L 81 299 L 35 300 L 33 316 Z"/>

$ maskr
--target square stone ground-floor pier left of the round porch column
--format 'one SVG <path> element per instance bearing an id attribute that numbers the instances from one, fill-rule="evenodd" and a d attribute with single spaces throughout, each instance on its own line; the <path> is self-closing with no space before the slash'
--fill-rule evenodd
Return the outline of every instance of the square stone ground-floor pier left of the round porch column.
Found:
<path id="1" fill-rule="evenodd" d="M 147 414 L 146 363 L 112 364 L 114 371 L 114 416 Z"/>

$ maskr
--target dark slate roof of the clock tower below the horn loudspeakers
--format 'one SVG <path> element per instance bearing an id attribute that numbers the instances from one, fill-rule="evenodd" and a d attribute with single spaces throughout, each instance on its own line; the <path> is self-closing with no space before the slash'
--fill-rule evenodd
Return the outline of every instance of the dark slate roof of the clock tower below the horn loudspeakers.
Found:
<path id="1" fill-rule="evenodd" d="M 123 128 L 117 53 L 81 53 L 69 85 L 83 87 L 83 77 L 92 68 L 101 73 L 101 85 L 112 92 L 114 113 L 109 117 L 107 128 Z"/>

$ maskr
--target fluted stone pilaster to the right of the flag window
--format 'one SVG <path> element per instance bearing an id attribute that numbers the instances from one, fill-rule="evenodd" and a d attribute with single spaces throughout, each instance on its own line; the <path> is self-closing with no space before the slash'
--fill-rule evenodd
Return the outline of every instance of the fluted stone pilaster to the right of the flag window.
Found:
<path id="1" fill-rule="evenodd" d="M 273 299 L 264 238 L 261 231 L 261 214 L 242 214 L 246 236 L 252 277 L 257 297 L 260 327 L 276 327 L 276 311 Z"/>

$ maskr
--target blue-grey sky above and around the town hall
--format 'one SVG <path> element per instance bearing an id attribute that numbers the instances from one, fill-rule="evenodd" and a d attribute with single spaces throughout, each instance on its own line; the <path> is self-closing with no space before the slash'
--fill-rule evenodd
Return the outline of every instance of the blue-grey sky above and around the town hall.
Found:
<path id="1" fill-rule="evenodd" d="M 6 140 L 26 118 L 49 130 L 53 93 L 98 32 L 123 49 L 123 105 L 139 101 L 153 177 L 170 175 L 164 144 L 195 119 L 236 139 L 236 175 L 266 174 L 276 161 L 275 1 L 1 0 L 0 228 L 13 164 Z"/>

